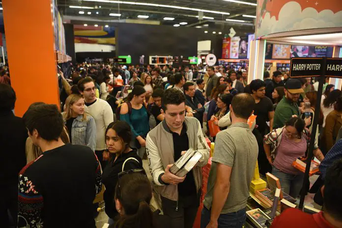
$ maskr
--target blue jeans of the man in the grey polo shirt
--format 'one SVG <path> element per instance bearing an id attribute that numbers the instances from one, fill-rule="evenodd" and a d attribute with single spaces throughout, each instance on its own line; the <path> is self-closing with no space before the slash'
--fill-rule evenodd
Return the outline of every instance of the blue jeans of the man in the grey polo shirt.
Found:
<path id="1" fill-rule="evenodd" d="M 217 220 L 218 228 L 242 228 L 246 221 L 246 208 L 239 211 L 221 214 Z M 200 217 L 200 228 L 205 228 L 210 222 L 210 210 L 205 206 Z"/>

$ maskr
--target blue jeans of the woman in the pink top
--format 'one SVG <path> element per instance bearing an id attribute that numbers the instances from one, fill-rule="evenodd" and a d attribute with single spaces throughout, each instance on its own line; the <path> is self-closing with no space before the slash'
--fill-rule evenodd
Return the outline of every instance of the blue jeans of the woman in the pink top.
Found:
<path id="1" fill-rule="evenodd" d="M 272 166 L 272 174 L 279 178 L 283 192 L 296 199 L 303 186 L 304 173 L 289 174 Z"/>

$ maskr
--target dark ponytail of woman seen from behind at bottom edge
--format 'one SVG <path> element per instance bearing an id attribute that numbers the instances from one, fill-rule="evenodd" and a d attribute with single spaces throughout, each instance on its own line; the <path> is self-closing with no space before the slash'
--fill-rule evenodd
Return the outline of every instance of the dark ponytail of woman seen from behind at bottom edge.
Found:
<path id="1" fill-rule="evenodd" d="M 153 213 L 146 201 L 140 201 L 136 214 L 123 215 L 117 221 L 118 228 L 153 228 Z"/>

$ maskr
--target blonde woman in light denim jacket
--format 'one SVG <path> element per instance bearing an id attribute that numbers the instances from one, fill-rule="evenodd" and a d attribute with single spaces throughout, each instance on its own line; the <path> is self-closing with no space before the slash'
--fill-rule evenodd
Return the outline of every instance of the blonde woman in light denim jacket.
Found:
<path id="1" fill-rule="evenodd" d="M 69 131 L 70 143 L 87 145 L 93 151 L 96 146 L 96 125 L 94 118 L 85 113 L 85 101 L 79 94 L 71 94 L 65 101 L 62 113 Z"/>

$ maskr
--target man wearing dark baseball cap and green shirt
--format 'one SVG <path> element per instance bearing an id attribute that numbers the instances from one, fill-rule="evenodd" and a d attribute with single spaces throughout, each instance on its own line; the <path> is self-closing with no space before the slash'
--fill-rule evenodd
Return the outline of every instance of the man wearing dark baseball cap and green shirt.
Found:
<path id="1" fill-rule="evenodd" d="M 298 79 L 287 80 L 284 91 L 285 96 L 274 113 L 273 129 L 283 127 L 292 115 L 300 116 L 297 101 L 300 94 L 304 92 L 301 82 Z"/>

